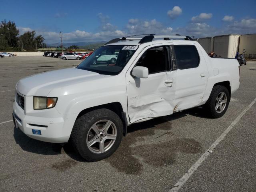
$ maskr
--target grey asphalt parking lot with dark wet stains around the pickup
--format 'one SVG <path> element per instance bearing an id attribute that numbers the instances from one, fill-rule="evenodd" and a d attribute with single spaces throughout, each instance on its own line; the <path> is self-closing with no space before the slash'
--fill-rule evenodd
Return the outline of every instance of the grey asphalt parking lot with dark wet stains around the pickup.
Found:
<path id="1" fill-rule="evenodd" d="M 20 78 L 79 63 L 43 56 L 0 58 L 0 191 L 167 192 L 227 128 L 179 191 L 256 191 L 256 61 L 241 67 L 240 88 L 222 118 L 209 119 L 193 108 L 134 124 L 112 156 L 93 163 L 68 145 L 29 138 L 10 121 Z"/>

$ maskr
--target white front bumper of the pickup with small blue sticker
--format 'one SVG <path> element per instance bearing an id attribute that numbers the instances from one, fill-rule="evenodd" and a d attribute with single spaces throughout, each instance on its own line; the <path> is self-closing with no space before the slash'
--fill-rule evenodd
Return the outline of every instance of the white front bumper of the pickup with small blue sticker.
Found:
<path id="1" fill-rule="evenodd" d="M 41 110 L 40 116 L 32 116 L 32 114 L 25 114 L 26 108 L 23 110 L 17 102 L 14 102 L 14 125 L 16 128 L 20 128 L 24 134 L 36 140 L 51 143 L 68 142 L 77 114 L 60 114 L 55 108 L 52 109 Z M 33 130 L 36 132 L 40 130 L 41 134 L 35 134 Z"/>

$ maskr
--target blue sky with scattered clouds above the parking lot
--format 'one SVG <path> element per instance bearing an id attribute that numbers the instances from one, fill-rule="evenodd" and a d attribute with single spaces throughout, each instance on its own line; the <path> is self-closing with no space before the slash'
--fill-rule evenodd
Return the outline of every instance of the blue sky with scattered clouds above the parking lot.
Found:
<path id="1" fill-rule="evenodd" d="M 47 43 L 92 42 L 130 34 L 215 36 L 256 33 L 256 0 L 68 1 L 13 0 L 0 20 L 16 22 L 20 34 L 36 30 Z"/>

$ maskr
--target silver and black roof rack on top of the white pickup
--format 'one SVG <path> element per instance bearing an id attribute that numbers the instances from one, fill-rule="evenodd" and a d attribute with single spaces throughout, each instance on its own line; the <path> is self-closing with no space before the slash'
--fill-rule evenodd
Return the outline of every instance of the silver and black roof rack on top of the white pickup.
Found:
<path id="1" fill-rule="evenodd" d="M 134 38 L 134 36 L 144 36 L 143 38 Z M 121 39 L 116 38 L 112 39 L 109 42 L 107 42 L 105 45 L 110 43 L 116 43 L 118 41 L 126 41 L 126 40 L 140 40 L 139 44 L 151 42 L 153 39 L 164 39 L 164 40 L 171 40 L 171 39 L 184 39 L 184 40 L 192 40 L 190 36 L 181 36 L 179 34 L 176 35 L 155 35 L 155 34 L 141 34 L 141 35 L 132 35 L 127 37 L 122 37 Z"/>

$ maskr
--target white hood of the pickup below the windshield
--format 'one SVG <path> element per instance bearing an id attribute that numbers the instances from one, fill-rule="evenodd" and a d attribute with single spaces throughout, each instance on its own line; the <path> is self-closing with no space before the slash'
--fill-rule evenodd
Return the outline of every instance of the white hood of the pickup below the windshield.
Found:
<path id="1" fill-rule="evenodd" d="M 106 75 L 76 68 L 67 68 L 23 78 L 16 84 L 16 90 L 25 96 L 47 96 L 54 88 L 74 85 L 78 82 L 88 82 L 103 77 L 106 77 Z"/>

